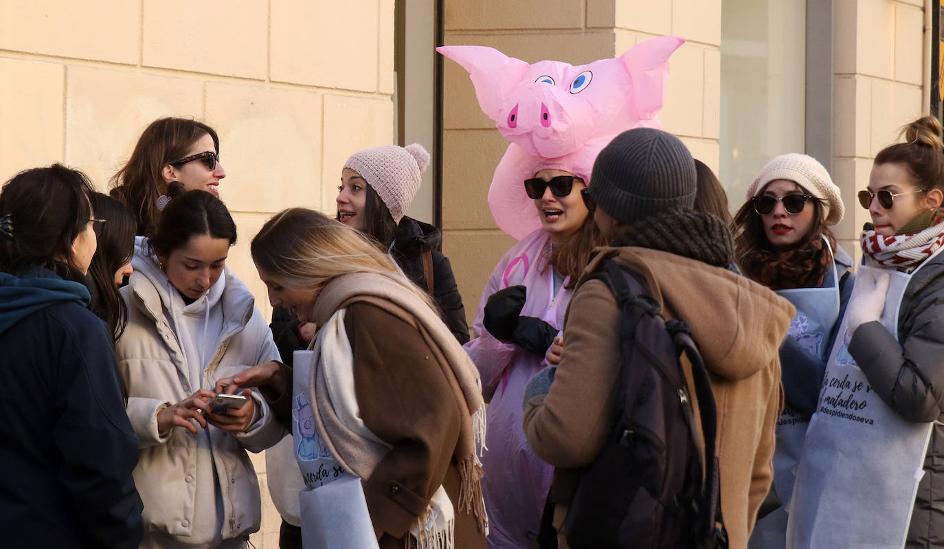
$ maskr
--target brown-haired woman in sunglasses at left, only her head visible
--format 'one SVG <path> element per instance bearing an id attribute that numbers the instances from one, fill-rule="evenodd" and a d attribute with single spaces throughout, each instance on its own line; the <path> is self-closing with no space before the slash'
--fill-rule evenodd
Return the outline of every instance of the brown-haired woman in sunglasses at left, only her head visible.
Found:
<path id="1" fill-rule="evenodd" d="M 167 186 L 175 181 L 184 191 L 208 191 L 219 196 L 220 139 L 209 125 L 186 118 L 160 118 L 148 125 L 125 166 L 111 178 L 111 196 L 135 214 L 139 236 L 157 228 L 160 209 L 167 204 Z"/>

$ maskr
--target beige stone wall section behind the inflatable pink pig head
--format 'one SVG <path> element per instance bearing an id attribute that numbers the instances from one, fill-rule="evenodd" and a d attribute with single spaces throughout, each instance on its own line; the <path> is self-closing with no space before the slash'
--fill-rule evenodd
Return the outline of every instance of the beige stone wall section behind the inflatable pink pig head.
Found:
<path id="1" fill-rule="evenodd" d="M 491 46 L 531 63 L 578 65 L 621 55 L 655 36 L 686 38 L 670 59 L 659 118 L 666 131 L 717 169 L 720 0 L 446 0 L 445 8 L 447 45 Z M 444 251 L 471 324 L 488 275 L 514 242 L 497 229 L 485 203 L 508 141 L 481 113 L 464 69 L 449 60 L 444 66 Z"/>

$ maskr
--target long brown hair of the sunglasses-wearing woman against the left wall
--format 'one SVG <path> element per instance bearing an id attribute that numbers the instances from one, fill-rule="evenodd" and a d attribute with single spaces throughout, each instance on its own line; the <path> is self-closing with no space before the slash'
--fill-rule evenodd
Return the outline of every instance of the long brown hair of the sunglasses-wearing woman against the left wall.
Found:
<path id="1" fill-rule="evenodd" d="M 220 139 L 209 125 L 187 118 L 155 120 L 144 129 L 125 166 L 111 177 L 110 194 L 134 213 L 139 235 L 149 237 L 157 228 L 158 198 L 167 194 L 164 166 L 183 158 L 205 135 L 210 135 L 219 154 Z"/>

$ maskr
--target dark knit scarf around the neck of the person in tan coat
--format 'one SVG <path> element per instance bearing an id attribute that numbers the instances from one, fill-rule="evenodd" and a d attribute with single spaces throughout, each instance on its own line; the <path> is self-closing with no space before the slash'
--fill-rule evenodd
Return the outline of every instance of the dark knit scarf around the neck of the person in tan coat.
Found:
<path id="1" fill-rule="evenodd" d="M 728 267 L 734 260 L 728 226 L 715 215 L 690 209 L 658 213 L 633 223 L 610 245 L 660 250 L 716 267 Z"/>

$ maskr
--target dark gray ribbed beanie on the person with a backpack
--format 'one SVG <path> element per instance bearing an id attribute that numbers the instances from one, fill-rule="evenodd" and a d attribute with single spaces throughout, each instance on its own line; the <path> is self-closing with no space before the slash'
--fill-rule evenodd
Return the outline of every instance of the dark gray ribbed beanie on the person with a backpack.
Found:
<path id="1" fill-rule="evenodd" d="M 692 208 L 698 176 L 679 138 L 650 127 L 624 131 L 599 152 L 587 194 L 610 217 L 633 223 L 663 211 Z"/>

